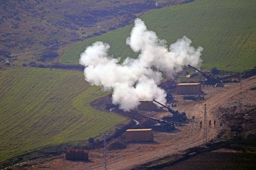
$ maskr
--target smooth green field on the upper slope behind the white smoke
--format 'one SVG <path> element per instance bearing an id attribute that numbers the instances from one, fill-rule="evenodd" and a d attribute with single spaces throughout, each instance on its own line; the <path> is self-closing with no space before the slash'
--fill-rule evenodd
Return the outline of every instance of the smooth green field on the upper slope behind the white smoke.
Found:
<path id="1" fill-rule="evenodd" d="M 150 11 L 140 18 L 168 44 L 186 35 L 204 48 L 202 68 L 244 71 L 256 66 L 256 1 L 196 0 Z M 111 45 L 114 57 L 136 57 L 125 40 L 132 26 L 94 37 L 68 48 L 59 62 L 78 64 L 82 51 L 95 41 Z"/>

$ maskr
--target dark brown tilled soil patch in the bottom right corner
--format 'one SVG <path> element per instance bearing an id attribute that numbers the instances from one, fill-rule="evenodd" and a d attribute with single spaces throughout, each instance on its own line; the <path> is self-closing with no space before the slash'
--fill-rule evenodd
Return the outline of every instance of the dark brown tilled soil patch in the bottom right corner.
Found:
<path id="1" fill-rule="evenodd" d="M 255 152 L 219 149 L 202 153 L 161 170 L 255 170 L 255 160 Z"/>

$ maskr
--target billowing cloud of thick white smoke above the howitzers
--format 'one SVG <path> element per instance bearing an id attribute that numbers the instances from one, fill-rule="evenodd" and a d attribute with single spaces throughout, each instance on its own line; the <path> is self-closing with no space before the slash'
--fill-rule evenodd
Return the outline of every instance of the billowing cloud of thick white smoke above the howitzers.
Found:
<path id="1" fill-rule="evenodd" d="M 144 22 L 135 20 L 131 36 L 126 44 L 137 59 L 126 58 L 122 64 L 119 59 L 108 55 L 110 45 L 94 42 L 81 54 L 80 64 L 84 76 L 91 85 L 101 85 L 104 90 L 113 89 L 112 103 L 124 111 L 137 108 L 139 99 L 157 99 L 166 102 L 166 92 L 159 88 L 162 72 L 172 77 L 182 71 L 184 65 L 199 66 L 202 47 L 195 49 L 186 36 L 169 46 L 160 40 L 156 33 L 148 31 Z"/>

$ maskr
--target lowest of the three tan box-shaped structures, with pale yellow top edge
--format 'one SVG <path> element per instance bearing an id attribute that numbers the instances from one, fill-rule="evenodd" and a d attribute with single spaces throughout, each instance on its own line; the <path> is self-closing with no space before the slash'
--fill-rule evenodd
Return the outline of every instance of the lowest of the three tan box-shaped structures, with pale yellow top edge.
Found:
<path id="1" fill-rule="evenodd" d="M 125 134 L 127 142 L 154 141 L 152 129 L 128 129 Z"/>

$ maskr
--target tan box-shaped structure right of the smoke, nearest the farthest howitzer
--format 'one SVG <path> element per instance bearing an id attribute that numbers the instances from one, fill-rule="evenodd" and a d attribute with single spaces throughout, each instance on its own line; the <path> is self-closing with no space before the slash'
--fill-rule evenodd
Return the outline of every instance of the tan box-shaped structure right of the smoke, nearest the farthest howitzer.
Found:
<path id="1" fill-rule="evenodd" d="M 201 93 L 201 83 L 177 84 L 177 94 L 198 94 L 198 93 Z"/>

